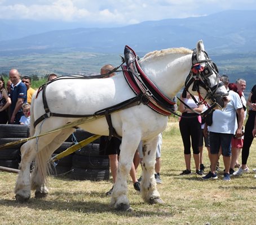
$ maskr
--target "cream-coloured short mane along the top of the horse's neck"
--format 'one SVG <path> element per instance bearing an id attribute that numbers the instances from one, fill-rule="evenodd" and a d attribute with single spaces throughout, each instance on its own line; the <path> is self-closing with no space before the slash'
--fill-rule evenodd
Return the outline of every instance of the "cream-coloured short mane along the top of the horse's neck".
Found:
<path id="1" fill-rule="evenodd" d="M 165 50 L 160 50 L 160 51 L 153 51 L 147 53 L 143 59 L 148 59 L 148 58 L 153 58 L 153 57 L 161 57 L 165 56 L 167 54 L 184 54 L 188 55 L 191 54 L 192 50 L 189 50 L 188 48 L 180 47 L 180 48 L 167 48 Z"/>

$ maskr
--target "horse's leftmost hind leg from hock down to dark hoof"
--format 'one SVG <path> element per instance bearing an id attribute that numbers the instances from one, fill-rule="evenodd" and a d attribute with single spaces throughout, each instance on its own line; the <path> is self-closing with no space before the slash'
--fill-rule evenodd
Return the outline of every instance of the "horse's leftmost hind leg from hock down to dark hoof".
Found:
<path id="1" fill-rule="evenodd" d="M 15 199 L 21 203 L 30 198 L 30 164 L 36 156 L 34 142 L 35 140 L 30 140 L 21 146 L 20 171 L 15 185 Z"/>

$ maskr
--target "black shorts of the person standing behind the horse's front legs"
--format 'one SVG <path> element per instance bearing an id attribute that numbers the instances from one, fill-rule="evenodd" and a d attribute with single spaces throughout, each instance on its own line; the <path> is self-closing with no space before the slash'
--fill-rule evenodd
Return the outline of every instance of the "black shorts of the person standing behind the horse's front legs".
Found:
<path id="1" fill-rule="evenodd" d="M 112 137 L 108 140 L 108 136 L 100 137 L 100 155 L 119 155 L 121 140 Z"/>

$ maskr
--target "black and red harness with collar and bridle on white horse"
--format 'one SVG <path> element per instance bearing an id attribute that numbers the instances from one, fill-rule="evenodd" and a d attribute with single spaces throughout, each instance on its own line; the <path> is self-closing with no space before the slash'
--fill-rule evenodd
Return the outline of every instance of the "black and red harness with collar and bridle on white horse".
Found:
<path id="1" fill-rule="evenodd" d="M 37 91 L 36 98 L 38 96 L 38 93 L 42 91 L 42 101 L 43 101 L 43 107 L 45 109 L 45 114 L 40 116 L 34 122 L 34 127 L 36 127 L 36 125 L 38 123 L 42 122 L 42 120 L 49 118 L 50 116 L 57 116 L 57 117 L 64 117 L 64 118 L 85 118 L 85 117 L 89 117 L 89 116 L 104 115 L 107 120 L 108 126 L 109 126 L 109 139 L 110 139 L 112 136 L 121 138 L 120 136 L 118 136 L 118 134 L 114 130 L 113 125 L 112 125 L 112 120 L 111 120 L 111 113 L 114 113 L 116 111 L 127 109 L 129 107 L 133 107 L 135 105 L 139 105 L 140 103 L 143 103 L 144 105 L 149 106 L 152 110 L 156 111 L 159 114 L 162 114 L 165 116 L 169 116 L 171 114 L 178 115 L 175 113 L 175 110 L 174 110 L 174 105 L 176 104 L 175 98 L 173 98 L 173 100 L 170 100 L 170 98 L 166 97 L 164 95 L 164 93 L 162 93 L 160 91 L 160 89 L 158 89 L 156 87 L 156 85 L 153 84 L 153 82 L 147 77 L 147 75 L 145 75 L 142 68 L 140 68 L 139 57 L 136 56 L 136 53 L 129 46 L 125 46 L 124 55 L 125 55 L 125 58 L 122 57 L 123 62 L 120 66 L 122 67 L 123 75 L 126 79 L 126 82 L 129 84 L 130 88 L 136 94 L 135 97 L 130 98 L 129 100 L 123 101 L 119 104 L 96 111 L 94 114 L 73 115 L 73 114 L 52 113 L 47 104 L 46 88 L 47 88 L 48 84 L 55 82 L 56 81 L 56 79 L 55 79 L 55 80 L 52 80 L 51 82 L 43 84 L 41 87 L 39 87 L 39 89 Z M 206 55 L 207 55 L 207 53 L 206 53 Z M 126 62 L 126 65 L 123 65 L 124 62 Z M 202 70 L 202 66 L 200 66 L 201 62 L 206 62 L 209 66 L 208 67 L 205 66 L 205 69 Z M 208 77 L 209 77 L 209 75 L 213 74 L 210 69 L 214 69 L 216 67 L 212 66 L 213 64 L 210 59 L 197 61 L 195 50 L 193 51 L 193 55 L 192 55 L 192 64 L 193 64 L 193 67 L 186 79 L 185 88 L 188 89 L 188 87 L 191 86 L 191 84 L 193 83 L 192 90 L 194 91 L 196 89 L 196 91 L 198 91 L 198 94 L 200 95 L 199 86 L 202 86 L 208 91 L 208 95 L 206 97 L 213 98 L 212 96 L 214 96 L 215 91 L 218 89 L 218 87 L 222 86 L 223 83 L 221 82 L 222 84 L 217 84 L 217 86 L 214 86 L 213 88 L 209 88 L 208 86 L 206 86 L 204 84 L 204 82 L 209 82 Z M 117 69 L 120 68 L 120 66 L 109 71 L 108 74 L 111 74 L 114 71 L 118 71 Z M 208 70 L 206 71 L 206 68 L 209 68 L 209 71 L 211 71 L 211 74 L 207 72 Z M 203 81 L 198 79 L 198 73 L 195 73 L 196 70 L 200 71 Z M 215 69 L 214 69 L 214 71 L 215 71 Z M 216 74 L 218 74 L 218 73 L 216 73 Z M 90 77 L 72 76 L 72 79 L 74 79 L 74 78 L 75 79 L 102 78 L 105 75 L 106 74 L 90 76 Z M 70 79 L 70 78 L 61 78 L 60 77 L 57 80 L 59 80 L 59 79 Z M 210 86 L 210 84 L 209 84 L 209 86 Z M 193 97 L 193 98 L 195 98 L 195 97 Z M 180 101 L 183 102 L 182 100 L 180 100 Z M 197 102 L 196 100 L 194 100 L 194 101 Z M 185 103 L 183 102 L 183 104 L 185 104 Z M 215 104 L 217 104 L 217 103 L 215 103 Z M 213 107 L 215 107 L 215 105 Z M 213 107 L 210 107 L 209 109 L 213 109 Z M 206 111 L 207 111 L 207 113 L 209 113 L 210 110 L 206 110 Z M 206 113 L 206 111 L 205 111 L 205 113 Z M 178 116 L 180 116 L 180 115 L 178 115 Z"/>

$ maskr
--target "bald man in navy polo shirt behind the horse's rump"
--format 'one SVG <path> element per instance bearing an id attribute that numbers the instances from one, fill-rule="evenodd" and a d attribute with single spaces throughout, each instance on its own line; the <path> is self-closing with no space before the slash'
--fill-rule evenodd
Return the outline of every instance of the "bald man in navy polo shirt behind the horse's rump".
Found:
<path id="1" fill-rule="evenodd" d="M 21 82 L 19 71 L 11 69 L 9 79 L 11 86 L 11 110 L 10 123 L 19 124 L 21 116 L 23 116 L 22 105 L 27 102 L 27 87 Z"/>

